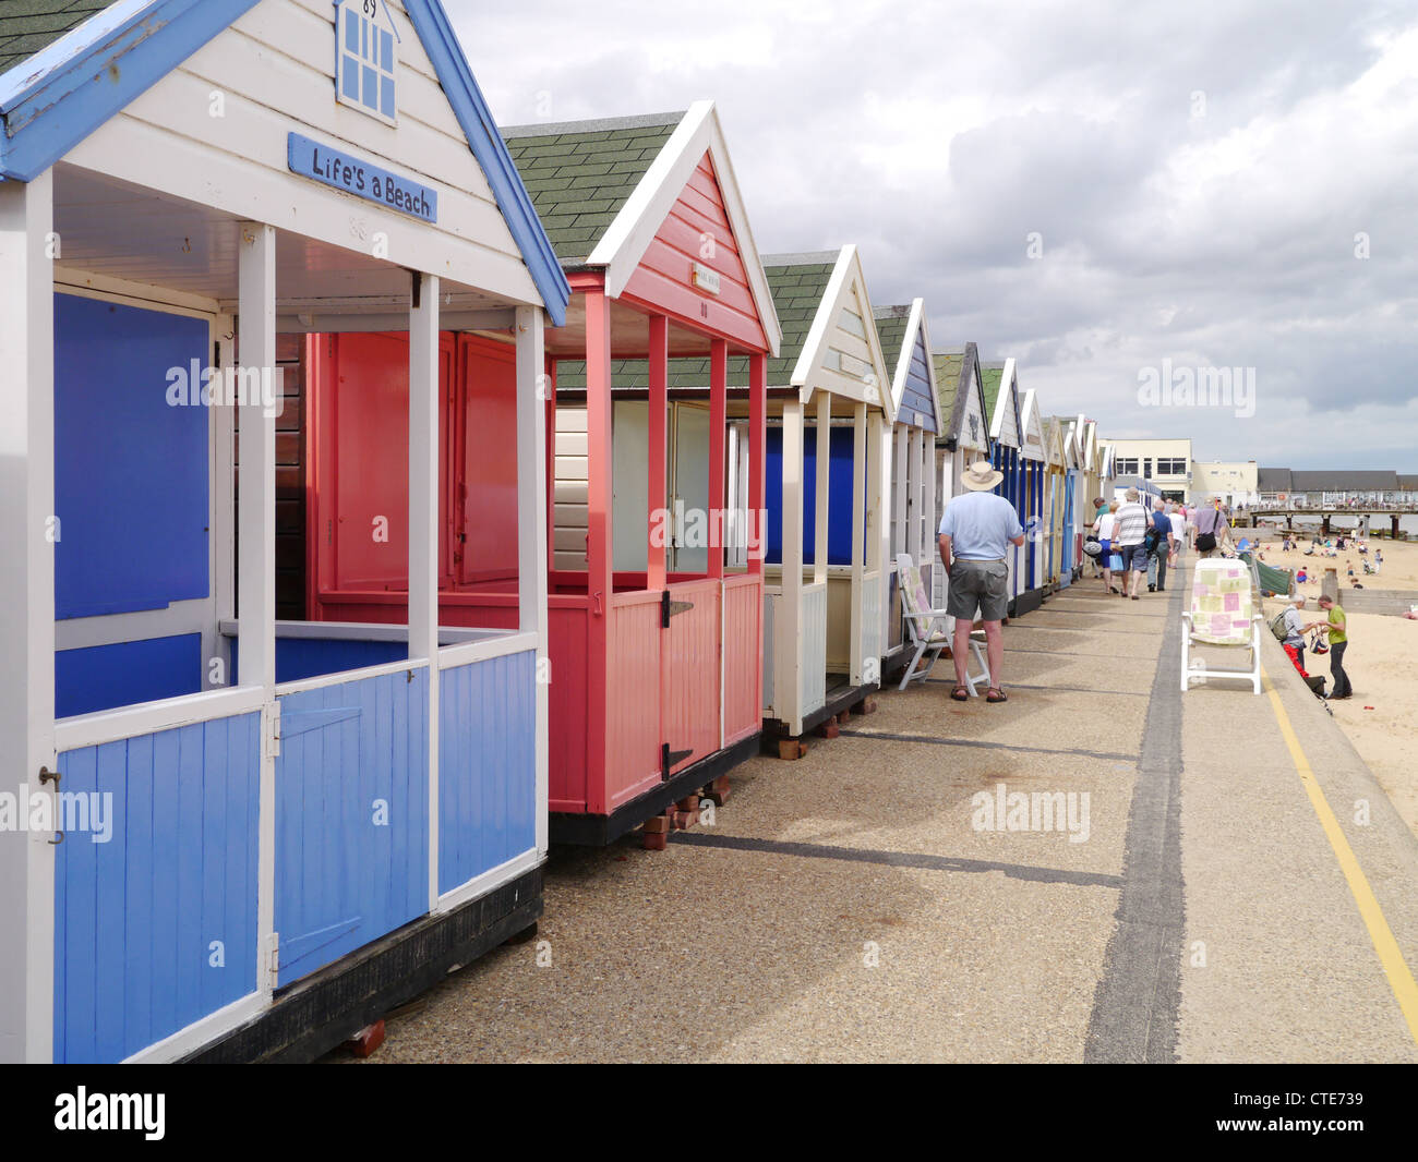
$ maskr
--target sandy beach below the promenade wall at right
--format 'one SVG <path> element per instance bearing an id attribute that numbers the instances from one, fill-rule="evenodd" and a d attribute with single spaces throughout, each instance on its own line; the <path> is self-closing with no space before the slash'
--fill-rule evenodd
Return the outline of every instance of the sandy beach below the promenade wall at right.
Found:
<path id="1" fill-rule="evenodd" d="M 1248 530 L 1245 536 L 1254 533 Z M 1309 621 L 1322 616 L 1314 598 L 1320 594 L 1324 570 L 1337 567 L 1340 590 L 1349 590 L 1350 561 L 1366 590 L 1412 592 L 1418 605 L 1418 543 L 1370 541 L 1370 554 L 1381 550 L 1384 564 L 1377 577 L 1364 577 L 1358 553 L 1346 550 L 1337 558 L 1305 557 L 1299 551 L 1279 551 L 1279 537 L 1272 530 L 1262 530 L 1262 538 L 1266 564 L 1292 571 L 1302 564 L 1317 570 L 1313 581 L 1300 585 L 1300 592 L 1309 598 L 1305 609 Z M 1307 543 L 1302 543 L 1305 547 Z M 1344 604 L 1343 597 L 1340 604 Z M 1266 615 L 1273 616 L 1280 608 L 1280 602 L 1268 601 Z M 1349 639 L 1344 670 L 1354 686 L 1354 697 L 1330 703 L 1334 721 L 1368 764 L 1409 830 L 1418 835 L 1418 765 L 1414 764 L 1418 752 L 1418 621 L 1351 612 Z M 1329 659 L 1307 656 L 1306 669 L 1327 676 Z"/>

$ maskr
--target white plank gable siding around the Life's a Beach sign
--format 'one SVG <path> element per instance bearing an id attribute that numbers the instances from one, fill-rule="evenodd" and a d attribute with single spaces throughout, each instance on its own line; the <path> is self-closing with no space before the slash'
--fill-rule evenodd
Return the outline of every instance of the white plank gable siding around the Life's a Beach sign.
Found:
<path id="1" fill-rule="evenodd" d="M 530 272 L 413 23 L 400 0 L 386 0 L 386 7 L 400 35 L 397 128 L 333 99 L 333 4 L 264 0 L 96 129 L 69 160 L 189 197 L 197 190 L 187 188 L 186 176 L 200 174 L 213 208 L 262 217 L 257 204 L 262 200 L 303 205 L 303 194 L 313 183 L 289 171 L 286 135 L 313 132 L 352 154 L 387 159 L 401 173 L 435 188 L 438 221 L 415 222 L 352 194 L 325 190 L 322 197 L 335 196 L 349 205 L 349 224 L 308 222 L 312 237 L 339 238 L 346 247 L 366 249 L 369 235 L 386 230 L 391 261 L 450 276 L 461 273 L 462 281 L 484 290 L 539 302 Z M 217 95 L 224 103 L 221 116 L 213 115 Z M 164 171 L 182 180 L 164 181 Z M 286 225 L 269 210 L 264 220 Z M 457 251 L 448 251 L 450 244 Z M 447 262 L 434 256 L 440 247 L 450 255 Z M 163 259 L 155 252 L 153 261 Z M 104 259 L 85 265 L 108 272 Z M 139 254 L 123 254 L 108 265 L 113 265 L 113 273 L 145 281 Z M 210 282 L 210 272 L 196 265 L 186 278 L 174 275 L 166 262 L 160 273 L 162 279 L 147 281 L 194 292 Z"/>

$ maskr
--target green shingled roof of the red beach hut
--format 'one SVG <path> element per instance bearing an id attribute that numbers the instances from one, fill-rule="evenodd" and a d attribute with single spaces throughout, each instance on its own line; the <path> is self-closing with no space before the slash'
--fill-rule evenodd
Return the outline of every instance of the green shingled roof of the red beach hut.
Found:
<path id="1" fill-rule="evenodd" d="M 564 268 L 584 265 L 683 116 L 648 113 L 502 129 Z"/>

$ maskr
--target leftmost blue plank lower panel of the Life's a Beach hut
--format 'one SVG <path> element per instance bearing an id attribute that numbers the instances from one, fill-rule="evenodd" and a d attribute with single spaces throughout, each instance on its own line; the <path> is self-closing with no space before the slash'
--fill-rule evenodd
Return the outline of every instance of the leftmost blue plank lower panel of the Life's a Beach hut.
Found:
<path id="1" fill-rule="evenodd" d="M 119 1061 L 255 991 L 259 754 L 241 714 L 60 755 L 65 792 L 112 795 L 112 837 L 54 849 L 57 1063 Z"/>

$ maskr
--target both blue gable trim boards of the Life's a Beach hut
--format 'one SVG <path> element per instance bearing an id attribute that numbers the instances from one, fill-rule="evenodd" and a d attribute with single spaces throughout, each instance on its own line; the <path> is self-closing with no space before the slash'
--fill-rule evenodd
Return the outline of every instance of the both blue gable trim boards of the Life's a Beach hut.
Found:
<path id="1" fill-rule="evenodd" d="M 0 177 L 33 181 L 259 0 L 118 0 L 0 77 Z M 554 326 L 571 288 L 440 0 L 406 0 Z"/>

